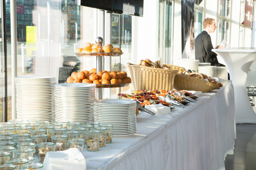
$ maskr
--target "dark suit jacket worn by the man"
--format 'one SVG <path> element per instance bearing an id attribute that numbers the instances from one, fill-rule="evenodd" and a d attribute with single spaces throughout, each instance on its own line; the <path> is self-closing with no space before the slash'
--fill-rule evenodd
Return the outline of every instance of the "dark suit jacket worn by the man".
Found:
<path id="1" fill-rule="evenodd" d="M 211 37 L 206 31 L 202 31 L 195 39 L 195 55 L 199 62 L 211 63 L 211 66 L 220 66 L 217 54 L 211 51 Z"/>

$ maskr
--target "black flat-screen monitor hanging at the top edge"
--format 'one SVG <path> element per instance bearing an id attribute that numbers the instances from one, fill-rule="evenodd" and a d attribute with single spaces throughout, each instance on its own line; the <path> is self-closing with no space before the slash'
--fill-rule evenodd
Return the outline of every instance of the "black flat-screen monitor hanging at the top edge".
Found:
<path id="1" fill-rule="evenodd" d="M 75 0 L 76 5 L 143 17 L 144 0 Z"/>

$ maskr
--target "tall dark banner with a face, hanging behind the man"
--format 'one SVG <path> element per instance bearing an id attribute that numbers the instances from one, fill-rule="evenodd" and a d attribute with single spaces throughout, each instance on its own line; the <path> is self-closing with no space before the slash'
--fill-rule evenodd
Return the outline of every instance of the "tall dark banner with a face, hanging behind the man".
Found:
<path id="1" fill-rule="evenodd" d="M 182 58 L 195 59 L 194 0 L 181 1 Z"/>

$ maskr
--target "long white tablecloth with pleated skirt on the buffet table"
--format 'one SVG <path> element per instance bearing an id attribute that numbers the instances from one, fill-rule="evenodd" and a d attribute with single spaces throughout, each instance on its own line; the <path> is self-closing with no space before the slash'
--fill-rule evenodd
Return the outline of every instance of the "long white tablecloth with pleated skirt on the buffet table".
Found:
<path id="1" fill-rule="evenodd" d="M 137 116 L 137 134 L 113 137 L 97 152 L 83 152 L 87 169 L 225 169 L 233 154 L 236 127 L 232 83 L 203 93 L 186 110 Z"/>

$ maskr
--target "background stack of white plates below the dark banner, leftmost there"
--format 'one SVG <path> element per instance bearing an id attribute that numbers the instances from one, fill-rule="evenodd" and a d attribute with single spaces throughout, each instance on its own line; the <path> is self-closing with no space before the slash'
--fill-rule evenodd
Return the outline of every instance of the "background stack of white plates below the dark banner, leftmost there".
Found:
<path id="1" fill-rule="evenodd" d="M 176 62 L 177 66 L 184 67 L 186 70 L 198 71 L 199 60 L 189 58 L 179 58 Z"/>

